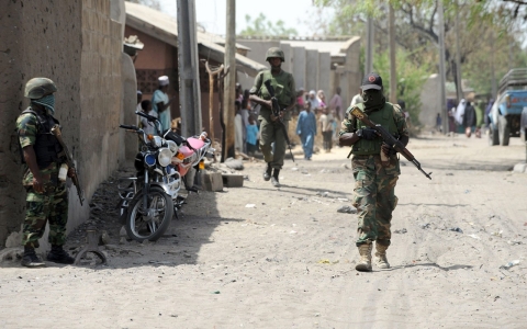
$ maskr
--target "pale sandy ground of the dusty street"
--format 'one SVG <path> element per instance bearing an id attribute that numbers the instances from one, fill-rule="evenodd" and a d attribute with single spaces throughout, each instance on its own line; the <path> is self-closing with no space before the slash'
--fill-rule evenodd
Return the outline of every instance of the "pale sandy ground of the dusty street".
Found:
<path id="1" fill-rule="evenodd" d="M 91 224 L 110 235 L 109 265 L 4 261 L 0 327 L 527 328 L 527 174 L 511 171 L 525 146 L 428 136 L 408 149 L 434 173 L 402 160 L 390 270 L 355 271 L 356 215 L 337 213 L 348 149 L 288 161 L 279 190 L 246 162 L 244 188 L 191 194 L 155 243 L 119 243 L 108 182 Z"/>

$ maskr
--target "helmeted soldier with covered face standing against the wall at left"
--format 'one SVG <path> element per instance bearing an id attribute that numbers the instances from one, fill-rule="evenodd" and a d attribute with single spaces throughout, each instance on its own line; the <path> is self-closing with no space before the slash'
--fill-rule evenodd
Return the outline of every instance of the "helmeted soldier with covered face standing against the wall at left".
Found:
<path id="1" fill-rule="evenodd" d="M 55 83 L 49 79 L 27 81 L 24 97 L 31 100 L 31 105 L 16 120 L 22 161 L 25 162 L 22 183 L 27 191 L 22 238 L 22 265 L 27 268 L 45 265 L 36 256 L 35 248 L 38 248 L 38 239 L 44 235 L 47 222 L 52 245 L 47 260 L 74 263 L 74 258 L 63 249 L 68 220 L 68 191 L 58 179 L 58 171 L 65 159 L 61 157 L 63 147 L 51 133 L 52 127 L 58 124 L 53 117 L 56 91 Z M 67 174 L 74 177 L 75 170 L 70 168 Z"/>

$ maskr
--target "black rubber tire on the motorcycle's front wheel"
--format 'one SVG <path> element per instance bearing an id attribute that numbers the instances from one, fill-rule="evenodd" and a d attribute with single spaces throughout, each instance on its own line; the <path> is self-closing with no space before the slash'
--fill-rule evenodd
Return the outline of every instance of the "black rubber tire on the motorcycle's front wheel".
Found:
<path id="1" fill-rule="evenodd" d="M 172 220 L 173 216 L 173 202 L 170 195 L 165 193 L 165 190 L 162 190 L 160 186 L 150 186 L 149 191 L 149 196 L 152 195 L 158 195 L 164 198 L 165 201 L 165 216 L 162 217 L 161 223 L 159 224 L 159 227 L 156 229 L 154 234 L 150 234 L 148 236 L 142 236 L 137 235 L 134 232 L 135 229 L 133 229 L 133 223 L 132 223 L 132 216 L 138 213 L 139 207 L 143 204 L 143 192 L 137 193 L 132 202 L 130 203 L 127 214 L 126 214 L 126 234 L 128 235 L 130 238 L 134 239 L 137 242 L 143 242 L 144 240 L 150 240 L 150 241 L 156 241 L 158 240 L 165 231 L 168 229 L 170 226 L 170 222 Z M 148 202 L 152 202 L 152 197 Z"/>

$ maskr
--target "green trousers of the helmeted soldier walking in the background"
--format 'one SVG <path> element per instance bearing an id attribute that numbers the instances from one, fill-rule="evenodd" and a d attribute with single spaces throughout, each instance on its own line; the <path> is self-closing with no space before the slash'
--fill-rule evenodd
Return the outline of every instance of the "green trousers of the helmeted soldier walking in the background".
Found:
<path id="1" fill-rule="evenodd" d="M 289 127 L 289 121 L 283 121 L 285 129 Z M 280 124 L 260 121 L 260 149 L 266 162 L 270 162 L 274 169 L 282 169 L 283 158 L 285 157 L 285 137 Z M 274 147 L 272 144 L 274 143 Z"/>

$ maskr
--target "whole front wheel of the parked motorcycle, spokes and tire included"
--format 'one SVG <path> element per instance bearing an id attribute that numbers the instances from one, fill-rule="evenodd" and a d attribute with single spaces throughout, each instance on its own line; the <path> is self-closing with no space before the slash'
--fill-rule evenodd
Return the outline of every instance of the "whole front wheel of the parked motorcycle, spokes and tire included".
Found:
<path id="1" fill-rule="evenodd" d="M 150 186 L 147 202 L 148 213 L 143 214 L 143 193 L 137 193 L 126 214 L 126 232 L 138 242 L 159 239 L 170 226 L 173 216 L 172 198 L 161 188 Z"/>

